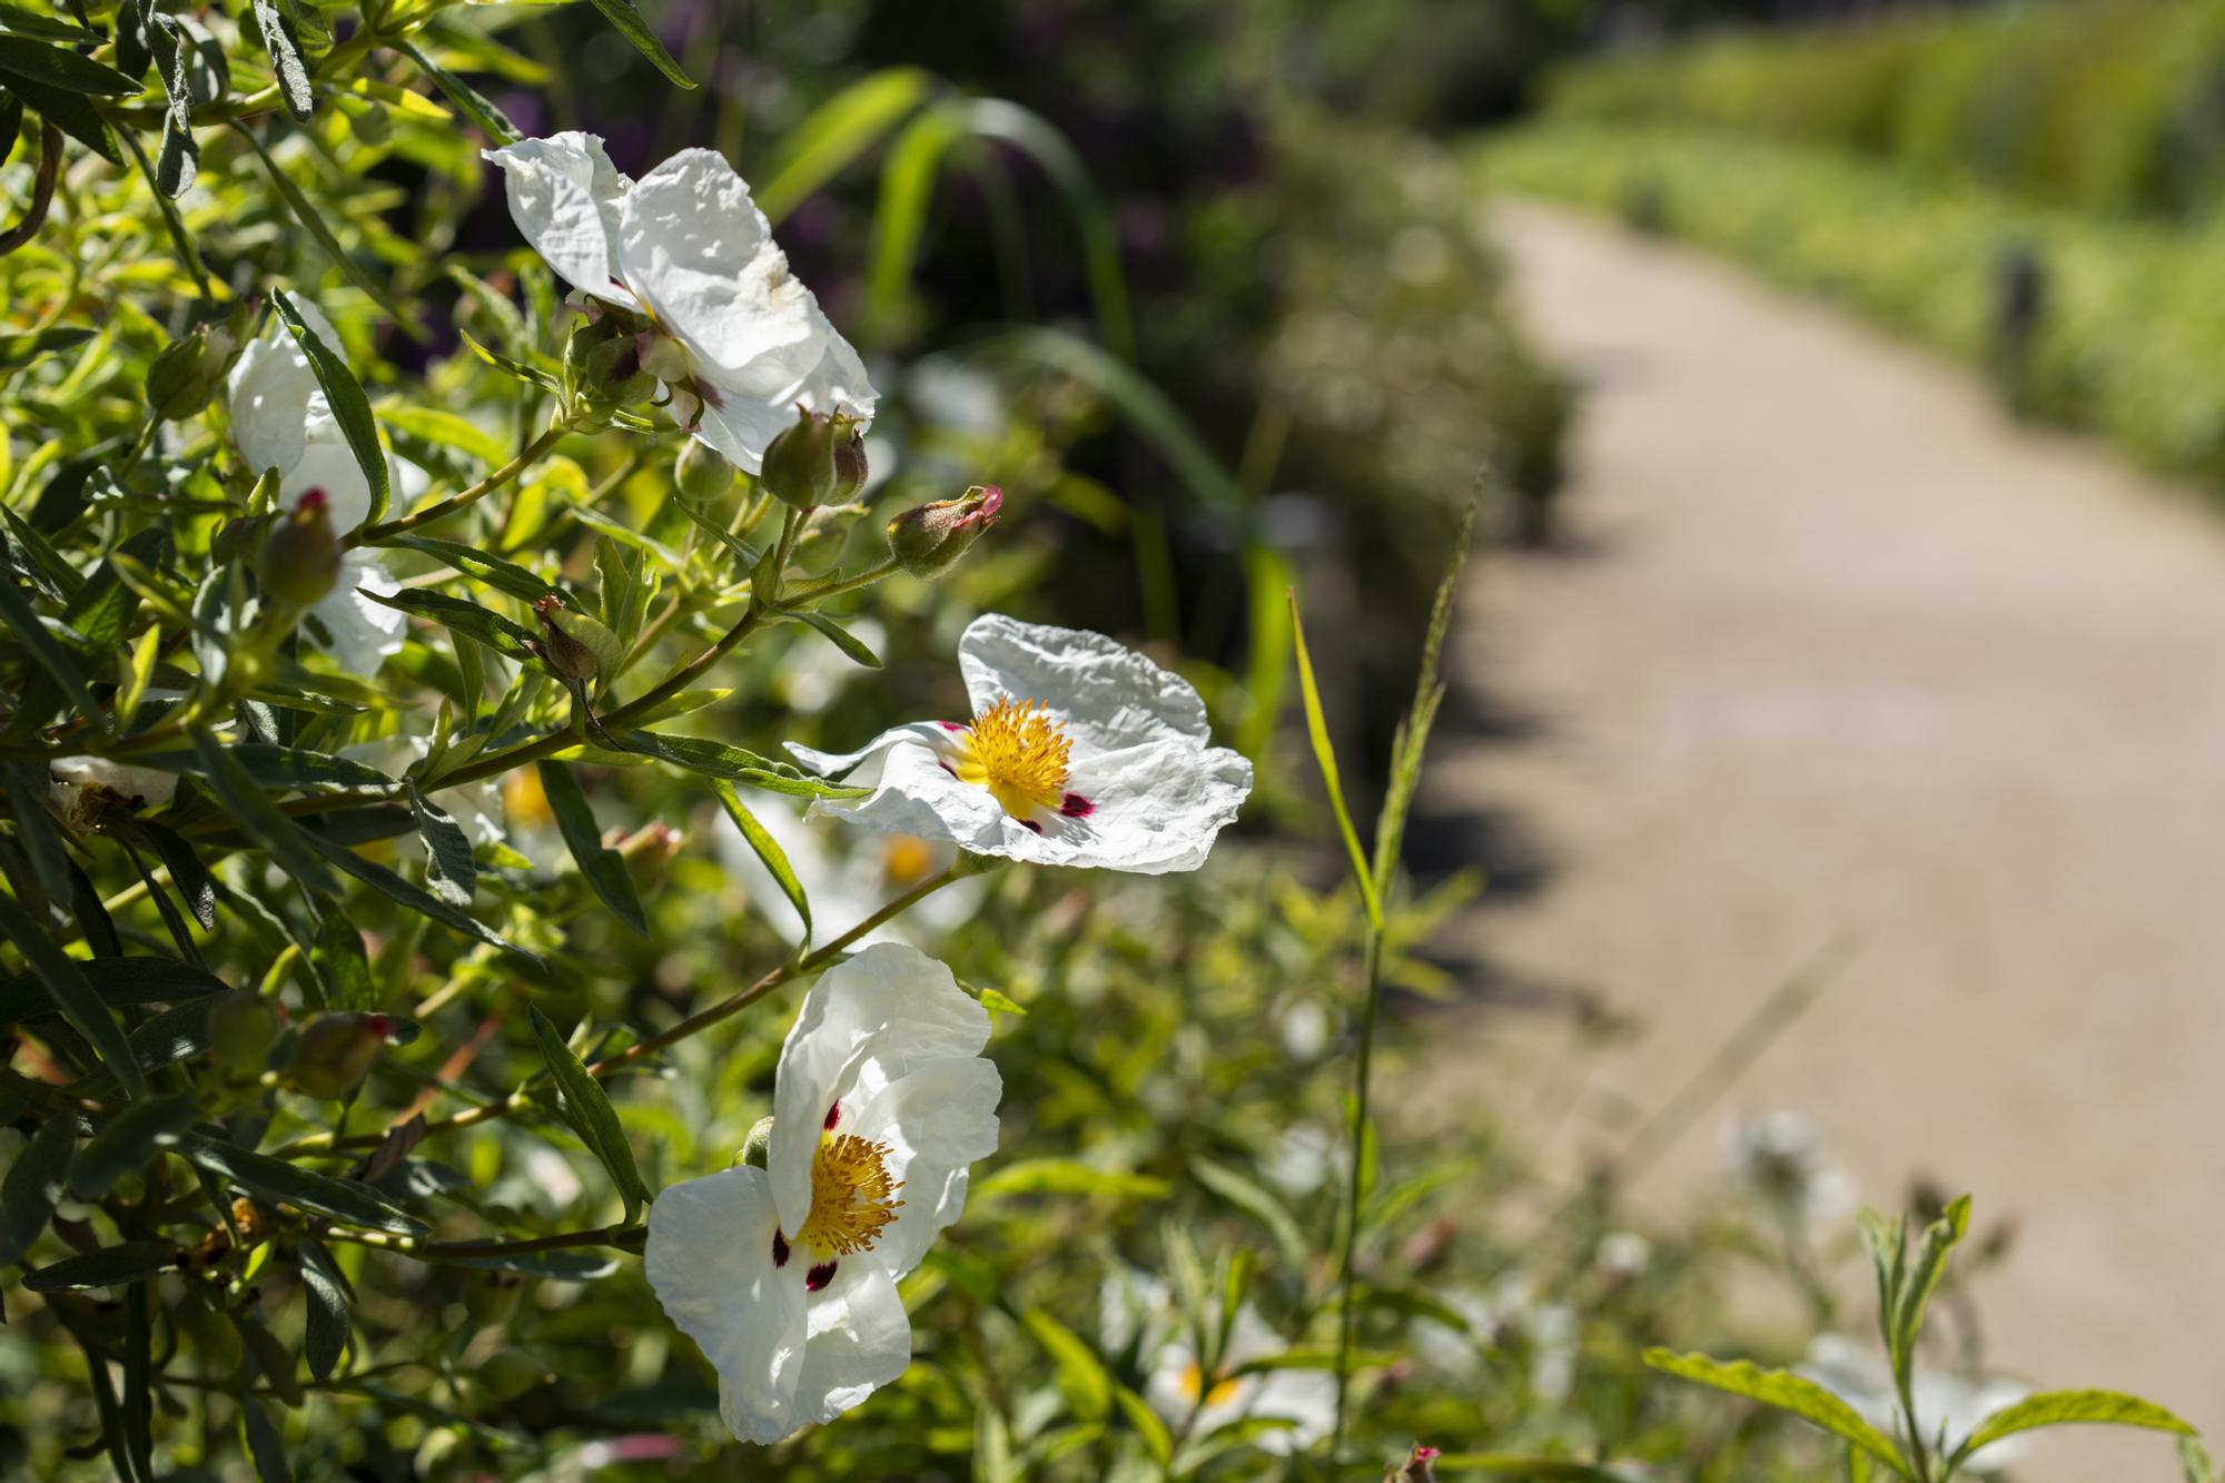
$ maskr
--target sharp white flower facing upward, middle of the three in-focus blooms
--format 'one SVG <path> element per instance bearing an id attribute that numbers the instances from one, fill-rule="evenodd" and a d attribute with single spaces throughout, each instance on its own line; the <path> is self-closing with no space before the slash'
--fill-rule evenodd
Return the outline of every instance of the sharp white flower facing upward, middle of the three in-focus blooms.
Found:
<path id="1" fill-rule="evenodd" d="M 861 799 L 812 815 L 950 839 L 975 855 L 1195 871 L 1250 793 L 1250 762 L 1208 746 L 1179 675 L 1079 628 L 986 615 L 959 639 L 972 721 L 897 726 L 848 755 L 790 746 Z"/>

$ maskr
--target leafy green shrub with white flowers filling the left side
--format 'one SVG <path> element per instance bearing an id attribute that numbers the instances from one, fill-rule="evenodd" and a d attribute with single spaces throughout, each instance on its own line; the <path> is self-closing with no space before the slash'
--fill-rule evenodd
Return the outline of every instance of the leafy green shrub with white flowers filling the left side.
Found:
<path id="1" fill-rule="evenodd" d="M 1593 1191 L 1515 1236 L 1475 1189 L 1551 1189 L 1491 1129 L 1371 1107 L 1384 991 L 1462 900 L 1397 868 L 1451 583 L 1371 844 L 1295 603 L 1266 626 L 1351 871 L 1308 888 L 1224 837 L 1259 757 L 1190 679 L 975 617 L 1046 586 L 1026 505 L 779 247 L 765 203 L 917 80 L 752 189 L 525 138 L 472 76 L 541 69 L 441 4 L 0 7 L 7 1465 L 1704 1452 L 1638 1354 L 1729 1243 L 1658 1258 Z M 1001 428 L 1012 490 L 1059 479 L 1044 423 Z M 1965 1218 L 1914 1258 L 1871 1227 L 1902 1438 L 1827 1381 L 1655 1363 L 1942 1479 L 1911 1356 Z M 1951 1456 L 2074 1418 L 2178 1427 L 2034 1396 Z"/>

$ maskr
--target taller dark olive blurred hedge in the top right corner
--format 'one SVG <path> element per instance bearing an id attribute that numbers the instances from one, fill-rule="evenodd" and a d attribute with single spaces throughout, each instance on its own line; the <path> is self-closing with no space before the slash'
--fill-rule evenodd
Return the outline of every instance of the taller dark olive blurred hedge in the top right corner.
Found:
<path id="1" fill-rule="evenodd" d="M 2103 0 L 1731 33 L 1593 60 L 1549 111 L 1882 154 L 2063 207 L 2225 198 L 2225 2 Z"/>

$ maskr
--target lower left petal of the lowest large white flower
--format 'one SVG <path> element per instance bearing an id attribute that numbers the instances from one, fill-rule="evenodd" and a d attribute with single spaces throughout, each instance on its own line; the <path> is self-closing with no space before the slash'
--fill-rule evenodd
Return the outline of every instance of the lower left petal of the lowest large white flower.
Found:
<path id="1" fill-rule="evenodd" d="M 774 1443 L 810 1421 L 803 1269 L 772 1265 L 779 1216 L 763 1169 L 723 1169 L 650 1205 L 641 1267 L 656 1300 L 719 1372 L 719 1414 L 743 1441 Z"/>

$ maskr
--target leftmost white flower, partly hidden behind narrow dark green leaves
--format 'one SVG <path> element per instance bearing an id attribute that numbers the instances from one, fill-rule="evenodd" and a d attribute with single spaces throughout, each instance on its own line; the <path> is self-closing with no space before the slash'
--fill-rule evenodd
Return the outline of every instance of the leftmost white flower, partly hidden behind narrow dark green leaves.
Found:
<path id="1" fill-rule="evenodd" d="M 298 301 L 300 316 L 320 341 L 338 352 L 340 336 L 309 301 Z M 276 316 L 263 334 L 247 343 L 231 365 L 227 383 L 231 405 L 231 441 L 258 477 L 278 470 L 278 503 L 291 508 L 309 490 L 323 490 L 332 510 L 332 528 L 347 534 L 372 514 L 372 481 L 363 477 L 356 452 L 332 414 L 325 387 L 309 367 L 309 354 Z M 423 470 L 409 465 L 423 488 Z M 387 459 L 389 488 L 407 488 L 407 479 Z M 340 579 L 314 608 L 309 635 L 352 675 L 374 675 L 378 664 L 398 652 L 407 615 L 374 603 L 363 592 L 392 597 L 398 583 L 376 557 L 347 552 Z"/>

